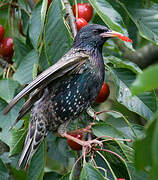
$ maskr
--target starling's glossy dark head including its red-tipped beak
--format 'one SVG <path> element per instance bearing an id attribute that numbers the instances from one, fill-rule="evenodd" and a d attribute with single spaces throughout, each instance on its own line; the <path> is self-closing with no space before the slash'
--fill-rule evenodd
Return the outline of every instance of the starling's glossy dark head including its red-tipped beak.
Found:
<path id="1" fill-rule="evenodd" d="M 102 48 L 105 41 L 110 37 L 119 37 L 124 41 L 132 42 L 128 37 L 112 31 L 107 26 L 90 24 L 80 29 L 75 37 L 74 47 Z"/>

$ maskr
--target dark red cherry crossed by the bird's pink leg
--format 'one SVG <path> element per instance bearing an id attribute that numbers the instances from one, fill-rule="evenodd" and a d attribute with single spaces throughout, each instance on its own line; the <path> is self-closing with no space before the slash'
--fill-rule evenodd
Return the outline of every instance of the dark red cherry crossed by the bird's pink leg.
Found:
<path id="1" fill-rule="evenodd" d="M 69 134 L 77 139 L 82 139 L 83 135 L 82 134 Z M 82 146 L 70 139 L 67 139 L 67 144 L 69 145 L 69 147 L 72 149 L 72 150 L 75 150 L 75 151 L 79 151 L 79 150 L 82 150 Z"/>

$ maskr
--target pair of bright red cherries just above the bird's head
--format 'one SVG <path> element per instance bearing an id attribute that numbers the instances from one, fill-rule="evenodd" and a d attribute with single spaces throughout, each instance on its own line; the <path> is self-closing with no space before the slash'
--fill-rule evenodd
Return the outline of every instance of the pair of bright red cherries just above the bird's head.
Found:
<path id="1" fill-rule="evenodd" d="M 76 12 L 77 9 L 77 12 Z M 77 3 L 73 5 L 73 13 L 76 17 L 76 27 L 79 31 L 86 26 L 93 16 L 93 7 L 89 3 Z"/>

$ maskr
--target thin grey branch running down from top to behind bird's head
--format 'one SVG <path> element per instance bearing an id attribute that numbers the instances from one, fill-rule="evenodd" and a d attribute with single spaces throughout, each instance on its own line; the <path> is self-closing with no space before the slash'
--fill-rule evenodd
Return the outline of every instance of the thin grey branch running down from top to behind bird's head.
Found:
<path id="1" fill-rule="evenodd" d="M 77 29 L 76 29 L 75 17 L 74 17 L 74 14 L 72 12 L 71 5 L 70 5 L 68 0 L 63 0 L 63 3 L 65 5 L 66 12 L 67 12 L 67 14 L 69 16 L 70 28 L 72 30 L 72 35 L 73 35 L 73 37 L 75 37 L 76 34 L 77 34 Z"/>

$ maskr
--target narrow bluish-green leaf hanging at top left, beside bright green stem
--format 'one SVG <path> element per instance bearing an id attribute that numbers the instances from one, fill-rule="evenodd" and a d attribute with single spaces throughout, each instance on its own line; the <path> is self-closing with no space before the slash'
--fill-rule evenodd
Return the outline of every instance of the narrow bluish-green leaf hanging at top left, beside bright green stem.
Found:
<path id="1" fill-rule="evenodd" d="M 41 35 L 41 7 L 42 2 L 39 1 L 33 9 L 30 17 L 29 35 L 35 49 L 38 48 L 38 41 Z"/>

